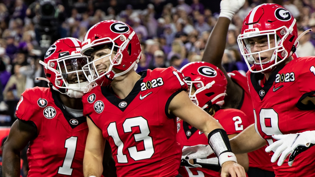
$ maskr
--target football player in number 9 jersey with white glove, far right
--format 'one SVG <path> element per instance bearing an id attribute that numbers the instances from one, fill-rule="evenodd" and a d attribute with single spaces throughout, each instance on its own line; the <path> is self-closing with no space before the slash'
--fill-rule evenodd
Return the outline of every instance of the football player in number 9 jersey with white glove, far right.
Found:
<path id="1" fill-rule="evenodd" d="M 294 142 L 301 143 L 303 139 L 310 141 L 306 143 L 308 146 L 312 143 L 313 134 L 309 130 L 315 127 L 315 58 L 291 57 L 300 38 L 295 21 L 289 11 L 277 4 L 259 5 L 244 19 L 238 44 L 249 66 L 247 77 L 256 119 L 255 125 L 230 140 L 235 153 L 250 152 L 283 138 L 272 135 L 301 133 L 290 140 L 293 143 L 289 146 L 298 147 Z M 282 146 L 273 151 L 279 155 L 284 149 Z M 284 158 L 272 164 L 276 176 L 314 176 L 315 148 L 308 148 L 303 155 L 297 156 L 300 150 L 305 148 L 298 147 L 286 159 L 284 153 Z M 278 155 L 272 157 L 272 162 L 277 161 Z M 283 164 L 284 160 L 289 164 Z"/>

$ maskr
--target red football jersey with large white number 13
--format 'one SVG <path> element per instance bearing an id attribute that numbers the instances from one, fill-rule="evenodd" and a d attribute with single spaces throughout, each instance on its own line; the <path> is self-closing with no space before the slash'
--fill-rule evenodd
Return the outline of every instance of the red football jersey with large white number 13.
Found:
<path id="1" fill-rule="evenodd" d="M 176 176 L 182 151 L 176 142 L 176 118 L 169 115 L 168 106 L 187 84 L 173 67 L 139 74 L 124 99 L 110 86 L 92 89 L 83 96 L 83 114 L 110 143 L 117 176 Z"/>

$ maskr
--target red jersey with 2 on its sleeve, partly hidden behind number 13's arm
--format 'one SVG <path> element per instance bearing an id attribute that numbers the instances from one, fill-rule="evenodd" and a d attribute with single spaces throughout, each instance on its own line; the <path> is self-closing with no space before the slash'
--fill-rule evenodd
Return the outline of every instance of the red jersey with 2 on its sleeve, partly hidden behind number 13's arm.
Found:
<path id="1" fill-rule="evenodd" d="M 244 112 L 238 109 L 220 109 L 215 112 L 214 118 L 222 125 L 228 135 L 238 134 L 250 125 L 248 120 L 249 118 Z M 186 146 L 208 144 L 208 138 L 206 135 L 185 121 L 181 120 L 177 123 L 177 131 L 177 142 L 180 143 L 182 149 Z M 213 157 L 211 158 L 211 161 L 218 163 L 219 159 L 217 157 Z M 215 172 L 206 168 L 189 168 L 181 166 L 178 171 L 183 177 L 194 177 L 197 175 L 204 177 L 221 176 L 220 172 Z"/>

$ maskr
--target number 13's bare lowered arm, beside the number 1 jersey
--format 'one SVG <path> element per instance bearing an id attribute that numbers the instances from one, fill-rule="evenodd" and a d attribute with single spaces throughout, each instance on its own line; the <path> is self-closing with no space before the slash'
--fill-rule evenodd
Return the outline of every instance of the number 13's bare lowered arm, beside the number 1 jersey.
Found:
<path id="1" fill-rule="evenodd" d="M 87 118 L 89 126 L 89 134 L 86 139 L 84 158 L 83 158 L 83 174 L 84 177 L 96 176 L 100 177 L 103 172 L 103 155 L 106 140 L 103 137 L 102 130 Z"/>

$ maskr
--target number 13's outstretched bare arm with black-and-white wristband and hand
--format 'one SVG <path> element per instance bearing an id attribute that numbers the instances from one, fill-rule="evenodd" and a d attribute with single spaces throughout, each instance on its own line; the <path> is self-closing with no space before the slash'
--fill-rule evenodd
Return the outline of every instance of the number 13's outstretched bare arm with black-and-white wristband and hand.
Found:
<path id="1" fill-rule="evenodd" d="M 222 177 L 227 177 L 230 174 L 232 177 L 246 176 L 244 168 L 238 163 L 235 163 L 235 155 L 229 151 L 231 147 L 229 147 L 229 140 L 223 127 L 215 118 L 211 117 L 207 112 L 194 104 L 185 91 L 180 92 L 172 99 L 169 104 L 169 113 L 196 127 L 207 137 L 209 134 L 208 139 L 211 142 L 209 144 L 212 144 L 211 146 L 215 148 L 215 154 L 218 156 L 220 165 L 222 166 Z M 218 139 L 221 139 L 221 141 Z M 225 145 L 225 147 L 221 147 L 221 145 Z M 222 149 L 226 149 L 226 151 Z"/>

